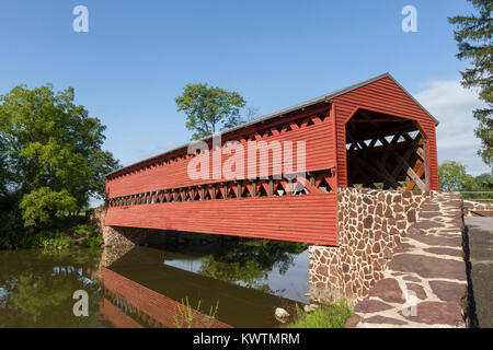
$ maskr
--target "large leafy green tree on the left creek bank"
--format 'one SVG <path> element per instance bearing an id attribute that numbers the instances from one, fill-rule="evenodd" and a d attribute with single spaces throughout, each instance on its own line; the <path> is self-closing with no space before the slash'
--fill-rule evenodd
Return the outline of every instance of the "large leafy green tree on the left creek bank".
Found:
<path id="1" fill-rule="evenodd" d="M 102 174 L 119 166 L 101 150 L 105 126 L 73 101 L 72 88 L 55 93 L 50 84 L 0 95 L 0 196 L 3 188 L 26 226 L 104 197 Z"/>

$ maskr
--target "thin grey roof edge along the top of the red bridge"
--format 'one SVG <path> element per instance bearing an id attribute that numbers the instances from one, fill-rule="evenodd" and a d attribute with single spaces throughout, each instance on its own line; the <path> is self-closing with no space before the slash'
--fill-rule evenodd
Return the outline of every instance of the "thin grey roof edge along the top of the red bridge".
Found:
<path id="1" fill-rule="evenodd" d="M 255 124 L 259 124 L 259 122 L 263 122 L 263 121 L 266 121 L 266 120 L 268 120 L 268 119 L 273 119 L 273 118 L 275 118 L 275 117 L 282 117 L 282 116 L 284 116 L 284 115 L 287 115 L 287 114 L 289 114 L 289 113 L 291 113 L 291 112 L 296 112 L 296 110 L 299 110 L 299 109 L 302 109 L 302 108 L 307 108 L 307 107 L 309 107 L 309 106 L 313 106 L 313 105 L 317 105 L 317 104 L 319 104 L 319 103 L 323 103 L 323 102 L 329 102 L 330 100 L 332 100 L 332 98 L 335 98 L 335 97 L 337 97 L 337 96 L 341 96 L 341 95 L 343 95 L 343 94 L 345 94 L 345 93 L 348 93 L 348 92 L 351 92 L 351 91 L 353 91 L 353 90 L 356 90 L 356 89 L 358 89 L 358 88 L 362 88 L 362 86 L 365 86 L 365 85 L 367 85 L 367 84 L 370 84 L 370 83 L 372 83 L 372 82 L 375 82 L 375 81 L 378 81 L 378 80 L 380 80 L 380 79 L 382 79 L 382 78 L 390 78 L 393 82 L 395 82 L 395 84 L 398 84 L 399 85 L 399 88 L 401 88 L 402 89 L 402 91 L 403 92 L 405 92 L 435 122 L 436 122 L 436 125 L 438 125 L 438 120 L 428 112 L 428 110 L 426 110 L 426 108 L 425 107 L 423 107 L 423 105 L 421 105 L 389 72 L 386 72 L 386 73 L 383 73 L 383 74 L 380 74 L 380 75 L 377 75 L 377 77 L 374 77 L 374 78 L 371 78 L 371 79 L 368 79 L 368 80 L 365 80 L 365 81 L 363 81 L 363 82 L 359 82 L 359 83 L 357 83 L 357 84 L 354 84 L 354 85 L 351 85 L 351 86 L 347 86 L 347 88 L 344 88 L 344 89 L 341 89 L 341 90 L 337 90 L 337 91 L 334 91 L 334 92 L 331 92 L 331 93 L 329 93 L 329 94 L 324 94 L 324 95 L 322 95 L 322 96 L 319 96 L 319 97 L 316 97 L 316 98 L 312 98 L 312 100 L 309 100 L 309 101 L 306 101 L 306 102 L 303 102 L 303 103 L 300 103 L 300 104 L 297 104 L 297 105 L 295 105 L 295 106 L 291 106 L 291 107 L 288 107 L 288 108 L 285 108 L 285 109 L 282 109 L 282 110 L 278 110 L 278 112 L 275 112 L 275 113 L 271 113 L 271 114 L 267 114 L 267 115 L 265 115 L 265 116 L 262 116 L 262 117 L 260 117 L 260 118 L 256 118 L 256 119 L 253 119 L 253 120 L 251 120 L 251 121 L 248 121 L 248 122 L 243 122 L 243 124 L 241 124 L 241 125 L 238 125 L 238 126 L 236 126 L 236 127 L 233 127 L 233 128 L 230 128 L 230 129 L 227 129 L 227 130 L 223 130 L 223 131 L 221 131 L 221 133 L 229 133 L 229 132 L 232 132 L 232 131 L 236 131 L 236 130 L 239 130 L 239 129 L 242 129 L 242 128 L 245 128 L 245 127 L 249 127 L 249 126 L 252 126 L 252 125 L 255 125 Z M 209 136 L 209 137 L 206 137 L 206 138 L 203 138 L 203 139 L 200 139 L 200 140 L 196 140 L 196 141 L 193 141 L 193 142 L 198 142 L 198 141 L 207 141 L 207 140 L 210 140 L 213 137 L 211 136 Z M 183 150 L 183 149 L 186 149 L 191 143 L 193 143 L 193 142 L 188 142 L 188 143 L 185 143 L 185 144 L 183 144 L 183 145 L 180 145 L 180 147 L 177 147 L 177 148 L 174 148 L 174 149 L 172 149 L 172 150 L 169 150 L 169 151 L 165 151 L 165 152 L 163 152 L 163 153 L 160 153 L 160 154 L 157 154 L 157 155 L 154 155 L 154 156 L 151 156 L 151 158 L 148 158 L 148 159 L 145 159 L 145 160 L 142 160 L 142 161 L 139 161 L 139 162 L 136 162 L 136 163 L 133 163 L 133 164 L 130 164 L 130 165 L 127 165 L 127 166 L 125 166 L 125 167 L 122 167 L 122 168 L 119 168 L 119 170 L 116 170 L 116 171 L 114 171 L 114 172 L 111 172 L 111 173 L 108 173 L 108 174 L 106 174 L 106 175 L 104 175 L 104 176 L 110 176 L 110 175 L 113 175 L 113 174 L 116 174 L 116 173 L 121 173 L 121 172 L 124 172 L 125 170 L 127 170 L 127 168 L 129 168 L 129 167 L 134 167 L 134 166 L 136 166 L 136 165 L 139 165 L 139 164 L 142 164 L 142 163 L 147 163 L 147 162 L 149 162 L 149 161 L 153 161 L 153 160 L 157 160 L 157 159 L 159 159 L 159 158 L 161 158 L 161 156 L 163 156 L 163 155 L 167 155 L 167 154 L 170 154 L 170 153 L 173 153 L 173 152 L 176 152 L 176 151 L 179 151 L 179 150 Z"/>

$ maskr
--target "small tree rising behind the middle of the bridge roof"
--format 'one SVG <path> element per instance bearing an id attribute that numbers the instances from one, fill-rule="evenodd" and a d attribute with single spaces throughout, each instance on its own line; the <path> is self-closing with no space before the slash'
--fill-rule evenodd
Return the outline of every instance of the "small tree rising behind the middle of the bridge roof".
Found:
<path id="1" fill-rule="evenodd" d="M 187 84 L 175 102 L 177 112 L 186 114 L 186 128 L 195 131 L 192 140 L 241 124 L 240 108 L 245 105 L 239 93 L 202 83 Z"/>

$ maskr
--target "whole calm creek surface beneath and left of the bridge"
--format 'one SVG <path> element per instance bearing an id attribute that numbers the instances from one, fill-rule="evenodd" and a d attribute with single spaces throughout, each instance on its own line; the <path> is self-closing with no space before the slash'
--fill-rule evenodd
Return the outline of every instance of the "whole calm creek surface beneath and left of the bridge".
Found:
<path id="1" fill-rule="evenodd" d="M 278 327 L 275 308 L 293 314 L 307 292 L 308 249 L 298 243 L 0 250 L 7 328 Z M 88 316 L 76 316 L 85 305 Z"/>

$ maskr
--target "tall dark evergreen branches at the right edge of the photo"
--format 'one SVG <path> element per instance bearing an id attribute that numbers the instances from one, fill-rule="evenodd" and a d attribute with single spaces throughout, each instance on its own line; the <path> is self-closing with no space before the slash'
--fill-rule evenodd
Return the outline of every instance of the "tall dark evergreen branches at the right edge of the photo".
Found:
<path id="1" fill-rule="evenodd" d="M 486 103 L 486 108 L 475 109 L 473 115 L 479 120 L 474 130 L 481 139 L 481 149 L 478 151 L 490 166 L 493 166 L 493 23 L 491 12 L 493 2 L 491 0 L 468 0 L 479 12 L 478 15 L 458 15 L 449 18 L 449 22 L 457 26 L 454 32 L 458 42 L 459 59 L 472 61 L 472 68 L 460 72 L 462 85 L 466 88 L 479 88 L 479 96 Z"/>

